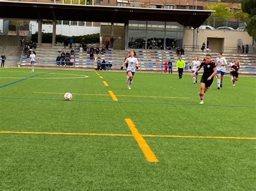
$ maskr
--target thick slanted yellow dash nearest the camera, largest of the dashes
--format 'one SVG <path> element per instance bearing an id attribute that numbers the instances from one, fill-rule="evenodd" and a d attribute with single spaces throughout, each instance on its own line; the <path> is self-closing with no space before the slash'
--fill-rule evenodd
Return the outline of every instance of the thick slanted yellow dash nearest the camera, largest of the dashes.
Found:
<path id="1" fill-rule="evenodd" d="M 139 133 L 139 131 L 136 129 L 136 127 L 132 123 L 131 119 L 129 119 L 129 118 L 125 119 L 125 122 L 129 126 L 133 137 L 136 139 L 136 141 L 137 141 L 140 149 L 144 153 L 147 161 L 149 161 L 149 162 L 158 162 L 158 159 L 157 159 L 156 155 L 154 155 L 154 153 L 151 150 L 151 148 L 149 147 L 149 145 L 147 145 L 147 142 L 145 141 L 143 136 Z"/>

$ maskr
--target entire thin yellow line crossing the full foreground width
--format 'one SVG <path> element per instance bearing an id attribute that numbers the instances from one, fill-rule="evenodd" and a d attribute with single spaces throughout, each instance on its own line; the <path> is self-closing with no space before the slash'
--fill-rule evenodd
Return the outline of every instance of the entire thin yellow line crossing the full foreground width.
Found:
<path id="1" fill-rule="evenodd" d="M 128 134 L 108 134 L 108 133 L 73 133 L 73 132 L 35 132 L 35 131 L 0 131 L 0 133 L 15 134 L 45 134 L 45 135 L 88 135 L 88 136 L 121 136 L 130 137 Z M 211 138 L 211 139 L 248 139 L 256 140 L 256 137 L 220 137 L 220 136 L 182 136 L 182 135 L 142 135 L 143 137 L 174 137 L 174 138 Z"/>

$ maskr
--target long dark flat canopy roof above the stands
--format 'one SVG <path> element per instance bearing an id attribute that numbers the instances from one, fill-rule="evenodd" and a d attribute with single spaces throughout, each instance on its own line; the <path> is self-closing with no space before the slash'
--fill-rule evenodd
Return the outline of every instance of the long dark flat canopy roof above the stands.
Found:
<path id="1" fill-rule="evenodd" d="M 73 20 L 128 23 L 129 20 L 178 22 L 199 27 L 214 11 L 147 9 L 119 6 L 71 5 L 35 2 L 0 2 L 0 18 L 28 20 Z"/>

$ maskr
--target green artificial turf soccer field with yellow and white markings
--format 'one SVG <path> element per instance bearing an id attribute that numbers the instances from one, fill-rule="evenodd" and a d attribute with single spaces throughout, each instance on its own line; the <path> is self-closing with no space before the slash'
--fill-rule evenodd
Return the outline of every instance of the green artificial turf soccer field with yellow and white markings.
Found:
<path id="1" fill-rule="evenodd" d="M 254 77 L 125 76 L 1 68 L 0 190 L 256 189 Z"/>

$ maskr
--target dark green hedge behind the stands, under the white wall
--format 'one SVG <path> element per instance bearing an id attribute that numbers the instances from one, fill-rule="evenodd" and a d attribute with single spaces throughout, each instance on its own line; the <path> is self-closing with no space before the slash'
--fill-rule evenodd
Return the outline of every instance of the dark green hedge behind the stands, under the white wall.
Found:
<path id="1" fill-rule="evenodd" d="M 65 38 L 71 38 L 68 36 L 63 36 L 61 34 L 56 35 L 56 43 L 63 43 Z M 91 43 L 99 43 L 99 33 L 97 34 L 87 34 L 84 36 L 72 36 L 74 39 L 74 43 L 86 43 L 86 44 L 91 44 Z M 33 42 L 37 42 L 37 33 L 32 34 L 32 39 Z M 42 33 L 42 43 L 52 43 L 52 33 Z"/>

